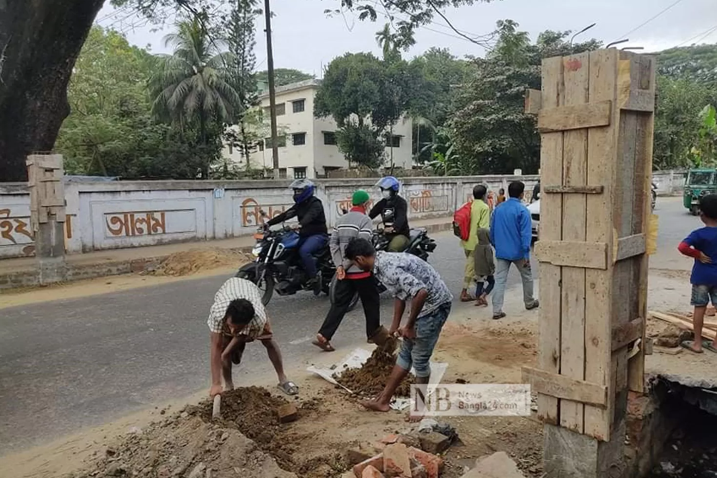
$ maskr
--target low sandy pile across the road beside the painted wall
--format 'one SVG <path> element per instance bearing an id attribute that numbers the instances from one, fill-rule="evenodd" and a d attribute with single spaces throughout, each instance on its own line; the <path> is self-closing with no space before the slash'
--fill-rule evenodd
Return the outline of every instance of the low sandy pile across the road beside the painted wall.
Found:
<path id="1" fill-rule="evenodd" d="M 238 269 L 248 261 L 246 254 L 231 249 L 190 249 L 171 254 L 152 274 L 184 276 L 219 267 L 236 266 Z"/>

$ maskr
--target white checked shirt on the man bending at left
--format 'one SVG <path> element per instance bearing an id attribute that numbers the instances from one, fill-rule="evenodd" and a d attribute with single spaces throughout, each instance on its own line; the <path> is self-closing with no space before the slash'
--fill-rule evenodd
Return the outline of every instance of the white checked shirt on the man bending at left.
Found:
<path id="1" fill-rule="evenodd" d="M 229 328 L 225 327 L 224 317 L 227 315 L 227 307 L 232 300 L 246 299 L 254 306 L 254 318 L 239 333 L 255 339 L 262 334 L 267 323 L 267 312 L 262 304 L 262 292 L 253 282 L 247 279 L 232 277 L 224 282 L 214 295 L 214 304 L 209 309 L 209 319 L 206 325 L 213 333 L 225 333 L 229 335 Z"/>

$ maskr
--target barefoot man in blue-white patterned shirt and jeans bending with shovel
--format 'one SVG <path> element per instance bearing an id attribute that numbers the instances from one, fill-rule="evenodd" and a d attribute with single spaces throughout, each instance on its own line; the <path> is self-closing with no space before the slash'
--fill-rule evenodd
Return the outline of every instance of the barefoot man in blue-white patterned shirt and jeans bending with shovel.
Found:
<path id="1" fill-rule="evenodd" d="M 411 366 L 416 373 L 416 383 L 428 383 L 431 375 L 429 360 L 450 313 L 453 296 L 436 269 L 412 254 L 376 252 L 366 239 L 353 239 L 346 246 L 344 255 L 360 269 L 373 271 L 396 297 L 389 333 L 400 335 L 403 344 L 384 391 L 373 400 L 361 402 L 369 410 L 389 411 L 391 398 Z M 408 301 L 411 310 L 401 325 Z M 419 418 L 409 416 L 412 421 Z"/>

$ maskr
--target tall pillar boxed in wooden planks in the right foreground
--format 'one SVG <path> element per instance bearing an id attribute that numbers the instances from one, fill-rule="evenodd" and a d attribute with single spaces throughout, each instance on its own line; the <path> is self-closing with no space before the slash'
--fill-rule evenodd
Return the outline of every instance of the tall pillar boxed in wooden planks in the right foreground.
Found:
<path id="1" fill-rule="evenodd" d="M 543 60 L 538 392 L 549 477 L 620 477 L 627 391 L 643 390 L 655 60 Z"/>

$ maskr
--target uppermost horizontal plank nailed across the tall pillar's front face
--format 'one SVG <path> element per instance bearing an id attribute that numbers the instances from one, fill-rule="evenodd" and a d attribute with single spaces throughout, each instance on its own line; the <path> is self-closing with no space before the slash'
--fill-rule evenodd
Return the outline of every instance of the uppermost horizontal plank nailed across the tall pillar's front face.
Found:
<path id="1" fill-rule="evenodd" d="M 585 105 L 543 107 L 538 113 L 538 131 L 553 133 L 555 131 L 579 130 L 610 125 L 612 101 L 591 102 Z"/>

